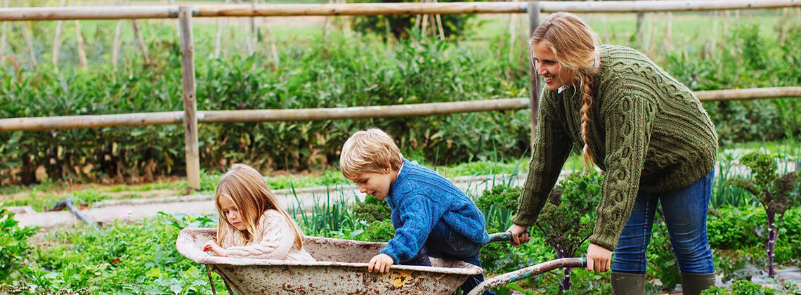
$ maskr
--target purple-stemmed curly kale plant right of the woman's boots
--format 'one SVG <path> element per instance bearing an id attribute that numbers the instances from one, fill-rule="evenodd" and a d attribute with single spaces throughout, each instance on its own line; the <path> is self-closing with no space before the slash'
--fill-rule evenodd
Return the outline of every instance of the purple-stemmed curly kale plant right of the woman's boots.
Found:
<path id="1" fill-rule="evenodd" d="M 740 158 L 740 163 L 751 168 L 751 179 L 732 177 L 727 184 L 743 188 L 756 196 L 762 203 L 767 215 L 767 239 L 765 251 L 767 253 L 767 275 L 774 277 L 773 265 L 776 236 L 782 224 L 784 212 L 795 204 L 799 204 L 799 172 L 789 172 L 779 176 L 776 172 L 777 156 L 770 156 L 760 152 L 751 152 Z"/>

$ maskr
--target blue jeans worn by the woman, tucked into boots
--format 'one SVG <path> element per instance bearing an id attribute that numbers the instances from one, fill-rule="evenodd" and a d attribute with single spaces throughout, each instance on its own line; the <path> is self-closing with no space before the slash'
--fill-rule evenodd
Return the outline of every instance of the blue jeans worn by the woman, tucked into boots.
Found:
<path id="1" fill-rule="evenodd" d="M 662 204 L 670 244 L 682 273 L 714 273 L 714 261 L 706 240 L 706 211 L 712 194 L 714 170 L 673 192 L 638 192 L 631 216 L 614 249 L 612 271 L 646 273 L 646 249 L 658 203 Z"/>

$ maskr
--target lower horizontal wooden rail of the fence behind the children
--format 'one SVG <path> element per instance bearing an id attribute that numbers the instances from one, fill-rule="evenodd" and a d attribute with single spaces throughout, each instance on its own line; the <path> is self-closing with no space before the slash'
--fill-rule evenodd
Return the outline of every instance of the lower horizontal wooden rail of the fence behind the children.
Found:
<path id="1" fill-rule="evenodd" d="M 801 87 L 769 87 L 696 91 L 701 101 L 773 99 L 801 97 Z M 529 108 L 528 98 L 486 99 L 452 103 L 415 103 L 372 107 L 301 108 L 282 110 L 198 111 L 198 123 L 286 122 L 327 119 L 370 119 L 449 115 L 478 111 L 506 111 Z M 183 124 L 183 111 L 160 111 L 119 115 L 66 115 L 0 119 L 2 131 L 46 131 L 113 126 Z"/>

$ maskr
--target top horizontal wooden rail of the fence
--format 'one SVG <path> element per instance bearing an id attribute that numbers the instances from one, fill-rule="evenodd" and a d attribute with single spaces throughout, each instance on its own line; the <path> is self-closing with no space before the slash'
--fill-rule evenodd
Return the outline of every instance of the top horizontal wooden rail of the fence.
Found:
<path id="1" fill-rule="evenodd" d="M 540 1 L 541 12 L 632 13 L 650 11 L 751 10 L 801 6 L 801 0 Z M 404 2 L 348 4 L 198 5 L 192 17 L 323 16 L 389 14 L 525 14 L 529 2 Z M 83 6 L 0 8 L 0 21 L 178 18 L 179 6 Z"/>

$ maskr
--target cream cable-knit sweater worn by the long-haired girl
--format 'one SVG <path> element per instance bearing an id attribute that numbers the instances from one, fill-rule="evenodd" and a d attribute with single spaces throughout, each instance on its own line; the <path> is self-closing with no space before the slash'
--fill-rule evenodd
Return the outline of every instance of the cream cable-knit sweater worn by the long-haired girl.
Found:
<path id="1" fill-rule="evenodd" d="M 244 234 L 236 229 L 228 232 L 230 238 L 221 245 L 227 249 L 228 257 L 315 261 L 306 250 L 298 249 L 295 232 L 280 212 L 272 209 L 264 211 L 257 228 L 249 242 L 245 242 Z"/>

